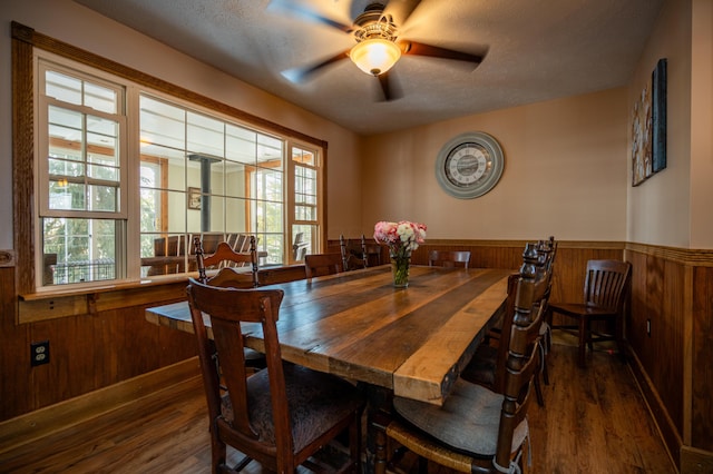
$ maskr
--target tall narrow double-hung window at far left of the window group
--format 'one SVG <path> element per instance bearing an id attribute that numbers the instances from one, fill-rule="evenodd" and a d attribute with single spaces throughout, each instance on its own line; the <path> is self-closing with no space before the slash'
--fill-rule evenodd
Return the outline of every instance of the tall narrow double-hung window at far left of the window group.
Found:
<path id="1" fill-rule="evenodd" d="M 39 61 L 42 284 L 123 278 L 124 90 Z"/>

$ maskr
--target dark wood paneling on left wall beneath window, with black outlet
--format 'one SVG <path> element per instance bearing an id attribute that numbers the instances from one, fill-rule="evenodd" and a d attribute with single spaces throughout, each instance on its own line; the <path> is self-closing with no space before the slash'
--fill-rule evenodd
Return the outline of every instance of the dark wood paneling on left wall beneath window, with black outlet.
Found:
<path id="1" fill-rule="evenodd" d="M 0 421 L 197 354 L 192 335 L 146 322 L 149 305 L 16 324 L 14 267 L 0 268 Z M 40 340 L 49 340 L 50 362 L 32 367 L 30 344 Z"/>

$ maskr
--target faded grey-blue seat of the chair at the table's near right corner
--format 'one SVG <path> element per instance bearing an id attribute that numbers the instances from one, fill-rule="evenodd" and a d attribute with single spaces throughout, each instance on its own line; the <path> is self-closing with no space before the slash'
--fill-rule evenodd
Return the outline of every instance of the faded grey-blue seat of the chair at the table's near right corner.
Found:
<path id="1" fill-rule="evenodd" d="M 442 407 L 403 397 L 394 397 L 393 407 L 409 423 L 441 443 L 482 457 L 496 453 L 502 399 L 500 394 L 459 378 Z M 512 452 L 527 435 L 525 418 L 515 428 Z"/>

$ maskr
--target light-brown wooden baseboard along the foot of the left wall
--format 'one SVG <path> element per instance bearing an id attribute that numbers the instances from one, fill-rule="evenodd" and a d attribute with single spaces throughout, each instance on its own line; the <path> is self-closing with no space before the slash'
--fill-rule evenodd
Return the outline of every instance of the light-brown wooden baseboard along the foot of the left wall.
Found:
<path id="1" fill-rule="evenodd" d="M 197 357 L 0 423 L 0 453 L 201 376 Z"/>

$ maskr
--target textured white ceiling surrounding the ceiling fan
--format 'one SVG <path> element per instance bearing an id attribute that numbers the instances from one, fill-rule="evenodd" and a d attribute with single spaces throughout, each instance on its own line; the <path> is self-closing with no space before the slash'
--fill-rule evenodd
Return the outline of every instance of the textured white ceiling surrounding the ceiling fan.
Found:
<path id="1" fill-rule="evenodd" d="M 349 60 L 303 83 L 286 80 L 281 71 L 333 57 L 354 39 L 270 0 L 75 1 L 362 135 L 624 86 L 663 3 L 422 0 L 400 38 L 487 51 L 485 60 L 473 69 L 406 55 L 392 70 L 403 97 L 379 101 L 378 80 Z M 374 0 L 292 2 L 351 24 Z"/>

